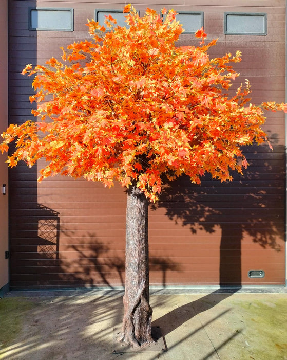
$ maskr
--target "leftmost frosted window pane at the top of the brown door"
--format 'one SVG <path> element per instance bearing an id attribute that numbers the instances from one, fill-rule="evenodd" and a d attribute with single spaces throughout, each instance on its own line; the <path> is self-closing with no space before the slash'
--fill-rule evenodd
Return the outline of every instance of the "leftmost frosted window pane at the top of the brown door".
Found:
<path id="1" fill-rule="evenodd" d="M 71 9 L 31 9 L 30 29 L 73 31 Z"/>

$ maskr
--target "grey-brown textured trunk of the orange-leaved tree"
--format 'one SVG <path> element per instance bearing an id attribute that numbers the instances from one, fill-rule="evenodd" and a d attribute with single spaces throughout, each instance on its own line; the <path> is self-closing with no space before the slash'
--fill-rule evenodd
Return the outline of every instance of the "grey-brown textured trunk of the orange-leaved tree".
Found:
<path id="1" fill-rule="evenodd" d="M 128 189 L 126 210 L 126 281 L 121 341 L 143 347 L 151 337 L 149 305 L 148 200 L 136 182 Z"/>

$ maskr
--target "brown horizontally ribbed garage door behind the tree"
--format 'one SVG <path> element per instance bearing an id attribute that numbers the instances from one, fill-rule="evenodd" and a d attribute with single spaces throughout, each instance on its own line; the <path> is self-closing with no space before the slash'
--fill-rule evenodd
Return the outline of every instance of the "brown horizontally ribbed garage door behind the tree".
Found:
<path id="1" fill-rule="evenodd" d="M 253 102 L 285 97 L 285 2 L 156 2 L 154 8 L 203 11 L 208 39 L 218 38 L 213 56 L 242 50 L 241 73 L 234 85 L 250 79 Z M 161 5 L 162 3 L 162 5 Z M 175 4 L 177 3 L 177 4 Z M 188 5 L 193 3 L 193 5 Z M 218 3 L 218 2 L 217 2 Z M 145 9 L 140 1 L 139 10 Z M 9 2 L 10 122 L 29 118 L 31 81 L 20 75 L 28 64 L 60 57 L 60 46 L 88 37 L 87 18 L 94 9 L 121 9 L 119 2 Z M 28 7 L 74 9 L 74 31 L 28 30 Z M 149 5 L 149 7 L 151 7 Z M 266 36 L 224 35 L 224 12 L 265 12 Z M 180 45 L 195 44 L 183 34 Z M 166 184 L 161 200 L 150 206 L 151 284 L 283 284 L 285 281 L 285 129 L 284 115 L 268 113 L 268 146 L 245 149 L 250 167 L 232 183 L 201 186 L 187 178 Z M 126 193 L 120 186 L 54 177 L 37 184 L 37 171 L 19 166 L 10 171 L 10 285 L 81 287 L 124 283 Z M 263 270 L 264 278 L 248 271 Z"/>

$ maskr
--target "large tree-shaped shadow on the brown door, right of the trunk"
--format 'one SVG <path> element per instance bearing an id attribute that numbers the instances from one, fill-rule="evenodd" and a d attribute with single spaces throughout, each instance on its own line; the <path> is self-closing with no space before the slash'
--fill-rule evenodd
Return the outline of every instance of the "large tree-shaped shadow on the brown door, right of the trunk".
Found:
<path id="1" fill-rule="evenodd" d="M 241 286 L 244 237 L 262 248 L 283 251 L 284 147 L 275 146 L 271 153 L 265 146 L 251 146 L 244 153 L 250 166 L 243 176 L 232 174 L 233 182 L 220 183 L 209 174 L 201 185 L 191 184 L 186 176 L 165 180 L 160 200 L 151 205 L 152 210 L 165 208 L 167 217 L 189 227 L 192 235 L 204 230 L 208 239 L 221 229 L 221 286 Z"/>

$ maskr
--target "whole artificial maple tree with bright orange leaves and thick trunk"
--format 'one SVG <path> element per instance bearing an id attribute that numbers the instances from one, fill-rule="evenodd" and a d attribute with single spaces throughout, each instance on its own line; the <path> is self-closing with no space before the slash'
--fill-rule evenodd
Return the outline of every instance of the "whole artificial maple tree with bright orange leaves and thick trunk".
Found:
<path id="1" fill-rule="evenodd" d="M 286 104 L 249 103 L 246 81 L 228 96 L 239 74 L 231 63 L 241 53 L 211 59 L 206 34 L 199 46 L 177 47 L 184 31 L 176 12 L 147 9 L 140 17 L 130 5 L 127 27 L 112 16 L 106 26 L 89 21 L 93 38 L 63 49 L 62 61 L 27 65 L 36 74 L 32 86 L 37 121 L 10 125 L 2 134 L 2 153 L 15 139 L 10 167 L 30 167 L 44 157 L 42 179 L 62 174 L 83 176 L 111 187 L 128 188 L 126 215 L 126 286 L 122 340 L 151 343 L 148 276 L 148 202 L 161 192 L 162 176 L 182 174 L 200 183 L 205 173 L 221 181 L 248 165 L 241 147 L 266 140 L 264 109 L 287 111 Z"/>

